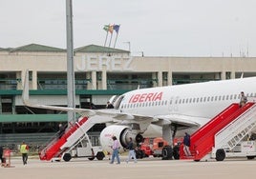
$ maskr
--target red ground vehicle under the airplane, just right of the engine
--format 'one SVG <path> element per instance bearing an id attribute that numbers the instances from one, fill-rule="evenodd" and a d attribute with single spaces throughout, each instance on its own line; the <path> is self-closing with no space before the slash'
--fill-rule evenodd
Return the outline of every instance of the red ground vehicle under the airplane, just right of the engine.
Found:
<path id="1" fill-rule="evenodd" d="M 144 158 L 153 155 L 154 157 L 162 156 L 163 147 L 168 146 L 167 141 L 161 137 L 157 138 L 144 138 L 144 141 L 139 144 L 139 148 L 136 149 L 137 158 Z"/>

